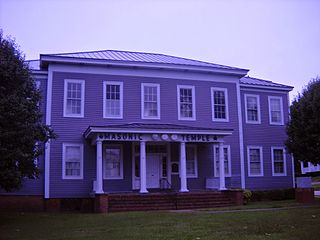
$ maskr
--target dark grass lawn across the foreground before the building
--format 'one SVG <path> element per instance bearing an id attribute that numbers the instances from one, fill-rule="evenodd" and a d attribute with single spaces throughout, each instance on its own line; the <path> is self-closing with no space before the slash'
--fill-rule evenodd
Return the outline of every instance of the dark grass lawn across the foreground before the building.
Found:
<path id="1" fill-rule="evenodd" d="M 294 202 L 249 204 L 281 208 Z M 255 205 L 253 207 L 253 205 Z M 233 208 L 229 208 L 233 209 Z M 320 205 L 214 213 L 0 213 L 0 239 L 320 239 Z"/>

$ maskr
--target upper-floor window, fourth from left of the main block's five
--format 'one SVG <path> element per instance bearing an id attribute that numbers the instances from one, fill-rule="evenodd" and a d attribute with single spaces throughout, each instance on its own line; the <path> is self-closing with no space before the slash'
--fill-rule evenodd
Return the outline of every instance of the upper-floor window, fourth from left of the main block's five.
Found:
<path id="1" fill-rule="evenodd" d="M 195 120 L 195 90 L 194 86 L 177 86 L 178 119 Z"/>

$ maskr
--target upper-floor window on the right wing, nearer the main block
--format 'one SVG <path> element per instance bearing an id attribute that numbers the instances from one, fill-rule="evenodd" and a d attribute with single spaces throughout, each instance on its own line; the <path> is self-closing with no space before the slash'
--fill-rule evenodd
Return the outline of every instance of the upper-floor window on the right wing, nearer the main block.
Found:
<path id="1" fill-rule="evenodd" d="M 260 97 L 258 95 L 245 94 L 246 123 L 261 123 Z"/>

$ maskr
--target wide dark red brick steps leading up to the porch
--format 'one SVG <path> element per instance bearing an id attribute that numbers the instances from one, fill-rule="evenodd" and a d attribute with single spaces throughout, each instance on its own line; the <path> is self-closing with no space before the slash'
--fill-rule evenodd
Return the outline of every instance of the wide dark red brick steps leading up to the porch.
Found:
<path id="1" fill-rule="evenodd" d="M 230 191 L 108 195 L 108 212 L 214 208 L 238 204 Z"/>

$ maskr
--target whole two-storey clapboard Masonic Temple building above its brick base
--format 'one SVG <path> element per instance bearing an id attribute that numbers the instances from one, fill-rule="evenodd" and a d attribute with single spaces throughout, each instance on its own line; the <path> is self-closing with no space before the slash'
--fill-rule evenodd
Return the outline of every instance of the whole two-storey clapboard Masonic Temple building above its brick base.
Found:
<path id="1" fill-rule="evenodd" d="M 86 198 L 159 189 L 294 187 L 285 125 L 292 87 L 248 70 L 124 51 L 30 61 L 57 138 L 14 195 Z"/>

